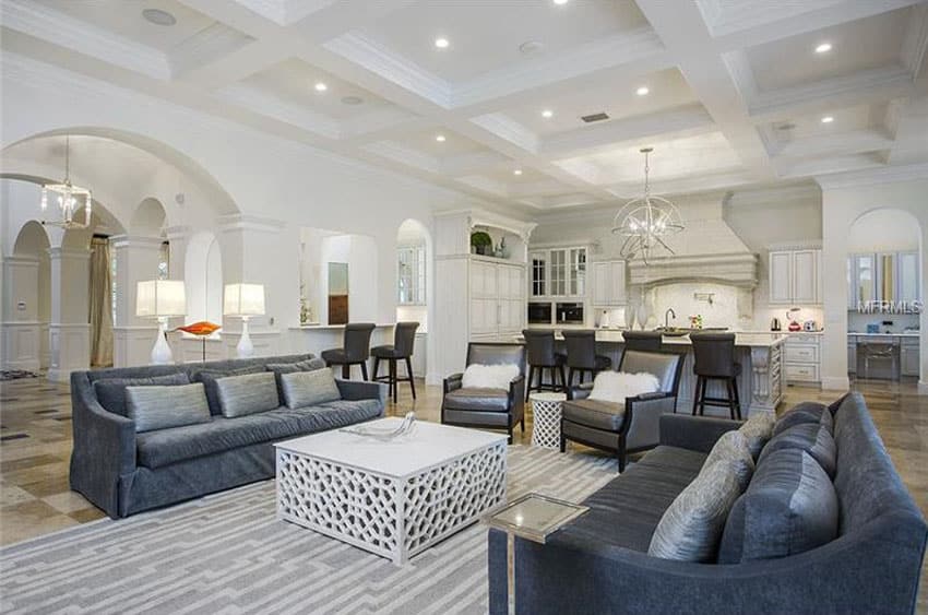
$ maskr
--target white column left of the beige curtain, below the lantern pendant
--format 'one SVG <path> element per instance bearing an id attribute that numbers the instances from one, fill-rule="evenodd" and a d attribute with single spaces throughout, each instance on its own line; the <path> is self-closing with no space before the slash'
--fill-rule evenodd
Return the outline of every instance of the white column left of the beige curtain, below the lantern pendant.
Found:
<path id="1" fill-rule="evenodd" d="M 56 246 L 49 248 L 48 255 L 51 264 L 48 379 L 63 382 L 71 371 L 87 369 L 91 363 L 91 252 Z"/>

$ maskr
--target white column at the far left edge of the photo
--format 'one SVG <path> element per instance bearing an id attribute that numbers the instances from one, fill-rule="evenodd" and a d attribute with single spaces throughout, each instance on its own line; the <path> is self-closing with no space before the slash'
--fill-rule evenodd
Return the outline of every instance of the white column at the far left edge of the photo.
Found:
<path id="1" fill-rule="evenodd" d="M 38 371 L 41 364 L 43 326 L 38 317 L 39 260 L 34 257 L 3 259 L 3 368 Z"/>

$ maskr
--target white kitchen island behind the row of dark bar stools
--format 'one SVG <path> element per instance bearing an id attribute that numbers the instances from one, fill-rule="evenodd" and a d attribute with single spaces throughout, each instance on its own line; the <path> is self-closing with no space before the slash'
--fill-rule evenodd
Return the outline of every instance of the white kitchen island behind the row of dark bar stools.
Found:
<path id="1" fill-rule="evenodd" d="M 558 352 L 563 352 L 563 336 L 555 330 Z M 523 341 L 522 336 L 516 338 Z M 782 333 L 736 333 L 735 360 L 741 364 L 738 377 L 738 394 L 741 398 L 741 416 L 747 418 L 753 412 L 774 412 L 783 399 L 783 343 Z M 679 352 L 686 355 L 680 390 L 677 397 L 677 412 L 692 412 L 695 389 L 693 374 L 692 342 L 688 335 L 664 336 L 665 352 Z M 596 352 L 612 359 L 612 366 L 619 365 L 624 352 L 622 332 L 614 329 L 596 330 Z M 707 387 L 707 397 L 725 397 L 725 387 L 721 381 L 712 381 Z M 728 409 L 705 406 L 705 414 L 728 416 Z"/>

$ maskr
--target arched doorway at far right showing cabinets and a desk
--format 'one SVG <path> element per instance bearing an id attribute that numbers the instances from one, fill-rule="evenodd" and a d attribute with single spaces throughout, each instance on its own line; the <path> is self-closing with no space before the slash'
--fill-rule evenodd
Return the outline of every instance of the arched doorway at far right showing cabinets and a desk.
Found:
<path id="1" fill-rule="evenodd" d="M 861 214 L 847 238 L 847 363 L 857 380 L 916 379 L 921 228 L 907 211 Z"/>

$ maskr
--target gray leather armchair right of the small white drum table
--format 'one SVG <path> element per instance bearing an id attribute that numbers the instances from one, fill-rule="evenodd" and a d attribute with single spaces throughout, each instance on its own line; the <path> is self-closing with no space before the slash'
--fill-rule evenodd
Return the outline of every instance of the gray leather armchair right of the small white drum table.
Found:
<path id="1" fill-rule="evenodd" d="M 568 391 L 561 417 L 561 452 L 567 440 L 615 453 L 619 472 L 624 471 L 628 453 L 656 447 L 661 441 L 661 415 L 677 411 L 677 391 L 683 370 L 683 355 L 626 351 L 619 371 L 646 371 L 657 377 L 661 389 L 627 398 L 624 403 L 590 400 L 591 383 Z"/>

